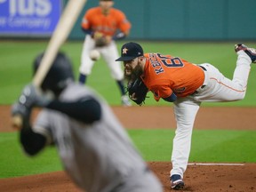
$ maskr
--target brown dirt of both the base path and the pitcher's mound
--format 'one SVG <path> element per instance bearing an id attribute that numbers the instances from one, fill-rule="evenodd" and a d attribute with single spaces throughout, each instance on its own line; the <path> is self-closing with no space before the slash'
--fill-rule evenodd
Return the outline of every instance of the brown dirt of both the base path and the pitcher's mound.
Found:
<path id="1" fill-rule="evenodd" d="M 175 128 L 175 120 L 170 107 L 113 107 L 113 110 L 127 128 Z M 256 108 L 200 108 L 195 129 L 256 130 L 256 125 L 252 122 L 252 116 L 255 114 Z M 36 116 L 36 112 L 34 116 Z M 0 106 L 0 118 L 0 132 L 12 132 L 9 106 Z M 172 164 L 169 162 L 148 162 L 148 164 L 162 181 L 164 192 L 172 191 L 169 181 Z M 184 191 L 256 191 L 256 164 L 190 164 L 184 180 L 186 182 Z M 76 188 L 65 172 L 50 172 L 1 179 L 0 191 L 78 192 L 80 190 Z"/>

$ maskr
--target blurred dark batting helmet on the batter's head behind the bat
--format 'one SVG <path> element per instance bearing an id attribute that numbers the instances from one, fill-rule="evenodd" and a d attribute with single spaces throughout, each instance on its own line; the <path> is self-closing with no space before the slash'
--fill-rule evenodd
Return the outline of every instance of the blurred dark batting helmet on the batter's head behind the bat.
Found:
<path id="1" fill-rule="evenodd" d="M 36 70 L 41 63 L 43 56 L 44 52 L 39 54 L 34 61 L 34 75 L 36 74 Z M 71 61 L 64 53 L 59 52 L 53 61 L 52 67 L 44 77 L 41 88 L 44 92 L 51 90 L 56 96 L 58 96 L 67 86 L 68 82 L 74 81 L 74 79 Z"/>

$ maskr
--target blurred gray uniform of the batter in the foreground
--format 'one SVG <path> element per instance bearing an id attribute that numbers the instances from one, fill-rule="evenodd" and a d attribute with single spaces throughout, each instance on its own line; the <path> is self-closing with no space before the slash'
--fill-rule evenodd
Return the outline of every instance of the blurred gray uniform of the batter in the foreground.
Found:
<path id="1" fill-rule="evenodd" d="M 95 98 L 101 118 L 84 124 L 56 110 L 44 108 L 33 131 L 54 142 L 65 170 L 87 192 L 160 192 L 162 186 L 104 100 L 91 89 L 69 84 L 59 100 Z"/>

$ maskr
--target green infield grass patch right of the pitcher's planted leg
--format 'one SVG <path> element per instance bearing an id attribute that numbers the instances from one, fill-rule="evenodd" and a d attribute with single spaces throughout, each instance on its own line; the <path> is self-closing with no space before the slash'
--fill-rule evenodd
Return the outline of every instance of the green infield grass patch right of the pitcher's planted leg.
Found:
<path id="1" fill-rule="evenodd" d="M 256 163 L 255 131 L 194 131 L 190 161 Z"/>

